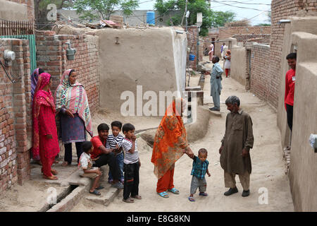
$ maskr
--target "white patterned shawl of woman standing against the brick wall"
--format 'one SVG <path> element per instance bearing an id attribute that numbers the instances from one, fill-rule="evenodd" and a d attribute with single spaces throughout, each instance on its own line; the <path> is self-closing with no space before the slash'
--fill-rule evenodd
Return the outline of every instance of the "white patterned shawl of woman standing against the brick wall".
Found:
<path id="1" fill-rule="evenodd" d="M 78 113 L 80 119 L 85 122 L 85 129 L 92 134 L 92 118 L 90 115 L 87 93 L 84 86 L 80 83 L 70 85 L 69 75 L 72 69 L 68 69 L 63 73 L 61 83 L 59 83 L 55 97 L 56 109 L 59 111 L 61 107 L 69 109 L 73 114 Z"/>

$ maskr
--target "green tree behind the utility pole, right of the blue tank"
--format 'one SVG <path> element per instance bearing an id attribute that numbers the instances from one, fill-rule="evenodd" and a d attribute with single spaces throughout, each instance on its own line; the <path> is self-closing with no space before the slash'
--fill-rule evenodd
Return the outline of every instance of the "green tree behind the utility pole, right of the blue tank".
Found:
<path id="1" fill-rule="evenodd" d="M 159 11 L 160 16 L 168 15 L 171 11 L 178 11 L 174 16 L 170 17 L 168 25 L 185 25 L 185 5 L 186 0 L 156 0 L 154 8 Z M 235 19 L 235 13 L 233 12 L 211 10 L 205 0 L 188 0 L 187 11 L 189 11 L 188 25 L 194 25 L 197 22 L 197 13 L 203 14 L 199 33 L 202 36 L 208 35 L 208 28 L 218 28 Z"/>

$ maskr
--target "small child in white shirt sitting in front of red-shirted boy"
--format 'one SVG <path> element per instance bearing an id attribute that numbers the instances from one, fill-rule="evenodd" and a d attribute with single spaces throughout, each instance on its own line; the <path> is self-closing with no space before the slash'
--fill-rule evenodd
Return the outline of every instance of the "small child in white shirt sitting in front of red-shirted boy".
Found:
<path id="1" fill-rule="evenodd" d="M 92 146 L 92 142 L 85 141 L 82 143 L 82 150 L 83 153 L 80 155 L 80 166 L 82 167 L 82 170 L 84 171 L 84 174 L 81 175 L 81 177 L 89 177 L 94 179 L 94 182 L 92 183 L 92 187 L 89 190 L 90 194 L 94 194 L 96 196 L 100 196 L 100 192 L 98 190 L 104 189 L 103 186 L 99 186 L 99 181 L 102 172 L 99 170 L 98 167 L 92 167 L 92 158 L 90 157 L 89 153 L 94 149 Z"/>

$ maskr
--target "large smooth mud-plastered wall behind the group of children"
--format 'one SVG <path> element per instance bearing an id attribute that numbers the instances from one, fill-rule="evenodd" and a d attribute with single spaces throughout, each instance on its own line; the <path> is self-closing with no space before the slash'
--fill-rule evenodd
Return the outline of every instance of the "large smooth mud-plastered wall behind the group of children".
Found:
<path id="1" fill-rule="evenodd" d="M 101 107 L 120 112 L 126 100 L 120 100 L 120 96 L 125 91 L 132 92 L 135 100 L 138 98 L 136 109 L 147 102 L 142 100 L 147 91 L 156 93 L 159 103 L 159 91 L 185 90 L 185 32 L 178 34 L 173 28 L 131 28 L 103 29 L 97 35 Z M 142 85 L 141 93 L 137 93 L 137 85 Z"/>

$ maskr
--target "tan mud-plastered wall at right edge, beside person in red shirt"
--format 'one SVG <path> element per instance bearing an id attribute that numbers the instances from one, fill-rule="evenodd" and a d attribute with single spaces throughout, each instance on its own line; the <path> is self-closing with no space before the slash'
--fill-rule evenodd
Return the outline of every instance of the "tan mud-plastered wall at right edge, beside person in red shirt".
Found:
<path id="1" fill-rule="evenodd" d="M 297 211 L 317 210 L 317 153 L 309 145 L 311 133 L 317 133 L 317 17 L 291 18 L 285 26 L 282 59 L 297 49 L 296 85 L 294 93 L 294 116 L 290 162 L 290 187 Z M 290 35 L 291 34 L 291 35 Z M 280 97 L 284 97 L 287 61 L 282 64 Z M 278 103 L 278 126 L 282 143 L 290 140 L 284 98 Z"/>

